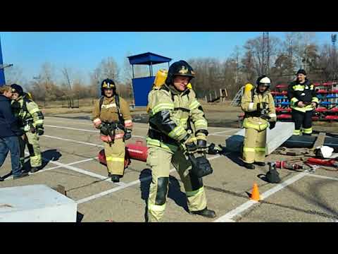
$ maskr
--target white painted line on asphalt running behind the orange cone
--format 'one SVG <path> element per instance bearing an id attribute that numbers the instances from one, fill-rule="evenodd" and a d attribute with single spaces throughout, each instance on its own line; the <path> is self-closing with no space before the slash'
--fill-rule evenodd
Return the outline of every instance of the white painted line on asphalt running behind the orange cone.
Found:
<path id="1" fill-rule="evenodd" d="M 308 172 L 302 172 L 300 174 L 297 174 L 296 176 L 293 176 L 290 179 L 287 179 L 286 181 L 278 184 L 277 186 L 270 188 L 270 190 L 265 191 L 265 193 L 261 194 L 261 200 L 264 200 L 265 198 L 268 198 L 270 195 L 273 195 L 277 191 L 282 190 L 282 188 L 285 188 L 289 186 L 290 184 L 294 183 L 295 181 L 298 181 L 299 179 L 302 179 L 304 176 L 308 175 L 310 173 Z M 244 212 L 252 205 L 255 205 L 259 202 L 254 200 L 249 200 L 244 202 L 244 204 L 240 205 L 239 207 L 235 208 L 234 210 L 231 210 L 230 212 L 227 212 L 227 214 L 224 214 L 223 216 L 219 217 L 218 219 L 215 219 L 214 222 L 227 222 L 229 219 L 232 219 L 233 217 L 237 216 L 238 214 Z"/>

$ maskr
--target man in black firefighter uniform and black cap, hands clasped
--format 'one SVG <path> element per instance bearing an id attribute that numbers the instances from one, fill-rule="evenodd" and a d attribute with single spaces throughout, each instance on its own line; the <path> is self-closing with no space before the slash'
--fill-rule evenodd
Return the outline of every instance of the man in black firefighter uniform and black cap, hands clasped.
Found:
<path id="1" fill-rule="evenodd" d="M 312 133 L 312 114 L 318 107 L 319 99 L 315 95 L 315 87 L 306 78 L 306 71 L 297 71 L 297 78 L 292 82 L 287 90 L 292 108 L 292 119 L 294 121 L 294 135 L 311 135 Z"/>

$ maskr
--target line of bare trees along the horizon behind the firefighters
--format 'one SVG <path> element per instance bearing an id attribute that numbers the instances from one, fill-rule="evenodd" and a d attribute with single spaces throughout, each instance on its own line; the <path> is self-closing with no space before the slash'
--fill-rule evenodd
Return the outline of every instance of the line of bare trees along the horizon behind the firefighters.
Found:
<path id="1" fill-rule="evenodd" d="M 104 78 L 112 78 L 118 84 L 118 92 L 132 99 L 132 67 L 127 61 L 123 66 L 112 56 L 102 59 L 89 73 L 89 83 L 83 74 L 63 67 L 56 70 L 51 63 L 44 63 L 39 75 L 25 80 L 18 67 L 5 69 L 6 83 L 18 83 L 31 92 L 38 101 L 54 101 L 73 98 L 93 98 L 99 94 Z M 331 44 L 319 45 L 315 32 L 286 32 L 284 40 L 270 36 L 268 44 L 263 35 L 247 40 L 242 47 L 235 47 L 227 59 L 194 57 L 185 59 L 192 65 L 196 78 L 192 81 L 197 97 L 226 88 L 230 99 L 247 82 L 255 83 L 258 75 L 269 75 L 273 85 L 289 83 L 299 68 L 306 69 L 310 80 L 337 80 L 337 54 Z M 61 75 L 56 81 L 56 71 Z M 134 66 L 135 77 L 148 76 L 144 66 Z M 61 81 L 60 81 L 61 80 Z"/>

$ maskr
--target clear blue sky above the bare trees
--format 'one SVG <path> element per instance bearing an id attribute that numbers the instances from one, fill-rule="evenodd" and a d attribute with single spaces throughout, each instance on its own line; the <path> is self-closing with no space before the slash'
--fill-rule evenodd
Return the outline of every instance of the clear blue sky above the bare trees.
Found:
<path id="1" fill-rule="evenodd" d="M 319 44 L 330 43 L 332 33 L 316 32 Z M 120 68 L 127 52 L 153 52 L 177 61 L 191 57 L 216 57 L 221 60 L 261 32 L 0 32 L 4 63 L 23 70 L 27 80 L 38 75 L 42 63 L 50 62 L 56 74 L 68 66 L 84 75 L 100 61 L 113 56 Z M 284 39 L 284 32 L 270 36 Z"/>

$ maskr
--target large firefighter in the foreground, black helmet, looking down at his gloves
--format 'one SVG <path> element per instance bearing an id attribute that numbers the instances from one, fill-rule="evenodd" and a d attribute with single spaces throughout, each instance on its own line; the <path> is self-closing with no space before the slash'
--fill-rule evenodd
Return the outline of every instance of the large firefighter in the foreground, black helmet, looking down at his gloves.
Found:
<path id="1" fill-rule="evenodd" d="M 207 149 L 208 123 L 194 91 L 187 88 L 192 78 L 192 67 L 186 61 L 177 61 L 170 66 L 165 83 L 154 86 L 148 95 L 146 163 L 151 167 L 152 176 L 147 204 L 148 222 L 159 222 L 164 215 L 170 163 L 180 174 L 189 212 L 215 217 L 215 212 L 206 206 L 203 181 L 192 174 L 192 163 L 186 157 Z"/>

